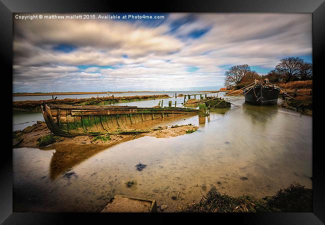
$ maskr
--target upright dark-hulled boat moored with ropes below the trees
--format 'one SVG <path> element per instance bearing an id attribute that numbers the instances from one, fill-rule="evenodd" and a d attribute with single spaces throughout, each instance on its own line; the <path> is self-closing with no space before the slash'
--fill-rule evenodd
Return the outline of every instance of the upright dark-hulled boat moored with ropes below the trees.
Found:
<path id="1" fill-rule="evenodd" d="M 265 79 L 264 82 L 255 80 L 253 86 L 247 87 L 243 90 L 245 102 L 248 104 L 276 104 L 280 88 Z"/>

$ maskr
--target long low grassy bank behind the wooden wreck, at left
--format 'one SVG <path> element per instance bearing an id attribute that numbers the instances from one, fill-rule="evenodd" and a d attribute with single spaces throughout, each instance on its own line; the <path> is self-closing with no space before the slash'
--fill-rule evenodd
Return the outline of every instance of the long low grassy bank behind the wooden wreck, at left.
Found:
<path id="1" fill-rule="evenodd" d="M 23 109 L 30 111 L 41 111 L 41 101 L 52 104 L 78 104 L 78 105 L 103 105 L 120 102 L 131 102 L 140 100 L 151 100 L 169 97 L 168 94 L 159 95 L 135 95 L 135 96 L 121 96 L 121 97 L 91 97 L 91 98 L 64 98 L 64 99 L 49 99 L 49 100 L 25 100 L 13 101 L 12 108 L 14 110 Z"/>

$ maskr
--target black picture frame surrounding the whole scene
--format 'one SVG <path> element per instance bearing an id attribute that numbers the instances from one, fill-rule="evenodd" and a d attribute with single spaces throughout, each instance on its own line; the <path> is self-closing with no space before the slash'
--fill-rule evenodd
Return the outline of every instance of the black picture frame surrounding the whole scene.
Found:
<path id="1" fill-rule="evenodd" d="M 151 4 L 151 6 L 150 6 Z M 183 219 L 194 219 L 206 216 L 214 222 L 240 222 L 249 224 L 322 224 L 325 223 L 325 186 L 324 167 L 322 159 L 322 127 L 323 113 L 320 104 L 322 98 L 322 56 L 324 56 L 325 41 L 325 2 L 324 0 L 179 0 L 161 2 L 112 2 L 104 0 L 1 0 L 1 73 L 2 87 L 10 85 L 12 81 L 12 13 L 14 12 L 280 12 L 280 13 L 312 13 L 312 63 L 313 63 L 313 119 L 312 119 L 312 189 L 313 212 L 308 213 L 155 213 L 159 220 L 166 218 L 172 220 L 175 216 Z M 4 85 L 3 85 L 4 84 Z M 4 89 L 4 88 L 3 88 Z M 12 212 L 12 150 L 10 135 L 12 123 L 6 119 L 9 115 L 7 106 L 12 104 L 12 95 L 9 91 L 2 92 L 3 120 L 8 121 L 3 130 L 3 145 L 0 162 L 0 222 L 3 224 L 56 224 L 68 223 L 67 219 L 76 222 L 88 223 L 94 219 L 104 219 L 109 222 L 112 214 L 105 213 L 18 213 Z M 320 128 L 318 130 L 318 128 Z M 151 218 L 143 214 L 115 214 L 122 216 L 122 220 L 130 221 L 134 216 Z M 125 217 L 126 216 L 126 217 Z M 126 220 L 127 218 L 127 220 Z M 139 219 L 139 218 L 138 218 Z M 139 221 L 139 220 L 137 220 Z M 156 220 L 151 220 L 156 222 Z"/>

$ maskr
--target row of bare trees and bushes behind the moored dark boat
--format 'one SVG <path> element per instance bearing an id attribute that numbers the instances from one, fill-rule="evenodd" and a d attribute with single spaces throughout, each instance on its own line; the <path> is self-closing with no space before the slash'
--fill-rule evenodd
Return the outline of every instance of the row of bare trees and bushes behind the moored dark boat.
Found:
<path id="1" fill-rule="evenodd" d="M 299 57 L 282 58 L 274 69 L 259 75 L 248 64 L 233 65 L 225 73 L 224 85 L 227 89 L 241 88 L 255 79 L 267 78 L 270 82 L 289 82 L 312 79 L 312 63 Z"/>

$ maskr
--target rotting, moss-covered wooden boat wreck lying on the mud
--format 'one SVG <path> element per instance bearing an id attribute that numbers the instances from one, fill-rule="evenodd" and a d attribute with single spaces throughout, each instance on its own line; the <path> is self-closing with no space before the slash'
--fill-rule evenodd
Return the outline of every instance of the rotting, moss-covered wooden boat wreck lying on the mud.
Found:
<path id="1" fill-rule="evenodd" d="M 198 113 L 182 107 L 137 107 L 112 105 L 41 105 L 45 123 L 54 135 L 131 134 L 150 130 L 120 130 L 137 122 L 166 116 Z"/>

